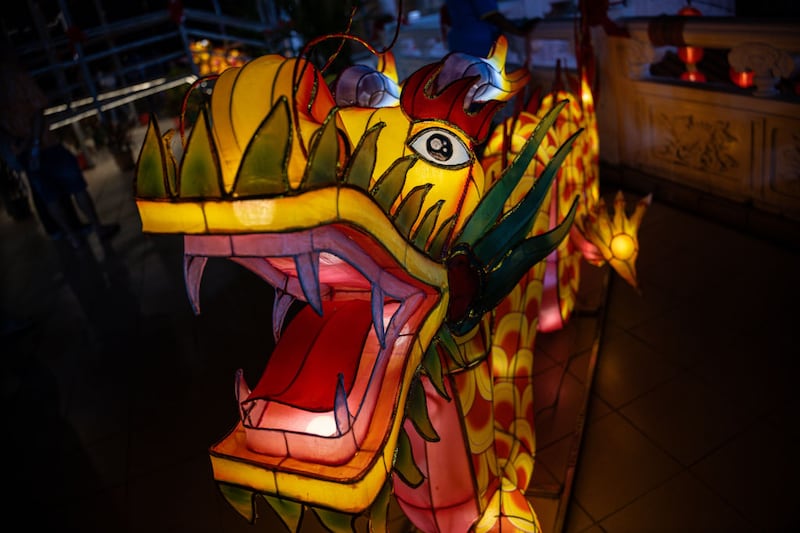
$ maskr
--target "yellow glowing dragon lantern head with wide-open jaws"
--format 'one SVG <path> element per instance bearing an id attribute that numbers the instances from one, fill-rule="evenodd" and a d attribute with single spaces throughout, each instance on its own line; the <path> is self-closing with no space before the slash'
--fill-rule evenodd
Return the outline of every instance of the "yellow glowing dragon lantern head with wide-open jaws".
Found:
<path id="1" fill-rule="evenodd" d="M 240 421 L 210 448 L 248 519 L 256 494 L 292 527 L 304 506 L 360 513 L 393 471 L 411 479 L 403 422 L 430 420 L 424 401 L 407 405 L 424 398 L 420 374 L 436 382 L 447 367 L 426 357 L 431 346 L 473 330 L 567 235 L 574 209 L 528 236 L 546 179 L 504 208 L 557 111 L 484 182 L 476 145 L 527 80 L 505 73 L 504 46 L 472 63 L 448 56 L 402 85 L 386 54 L 377 77 L 355 68 L 332 89 L 304 59 L 267 55 L 209 80 L 177 150 L 151 120 L 137 207 L 143 231 L 184 235 L 194 311 L 209 258 L 275 289 L 275 350 L 257 381 L 235 376 Z"/>

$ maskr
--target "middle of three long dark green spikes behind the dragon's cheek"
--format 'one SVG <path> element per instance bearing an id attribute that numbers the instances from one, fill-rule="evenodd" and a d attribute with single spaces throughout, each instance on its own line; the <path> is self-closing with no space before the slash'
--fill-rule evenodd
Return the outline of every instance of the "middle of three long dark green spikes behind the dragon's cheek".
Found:
<path id="1" fill-rule="evenodd" d="M 509 248 L 528 235 L 533 225 L 533 219 L 547 196 L 547 191 L 550 189 L 561 163 L 572 150 L 572 145 L 581 131 L 583 130 L 575 132 L 559 147 L 525 198 L 506 213 L 502 220 L 475 244 L 475 257 L 481 264 L 486 265 L 487 270 L 494 268 L 495 263 Z"/>

